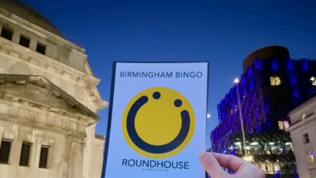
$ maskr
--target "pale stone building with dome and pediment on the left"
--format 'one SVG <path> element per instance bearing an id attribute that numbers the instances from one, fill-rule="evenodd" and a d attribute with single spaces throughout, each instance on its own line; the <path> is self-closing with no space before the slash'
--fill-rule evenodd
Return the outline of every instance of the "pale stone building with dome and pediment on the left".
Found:
<path id="1" fill-rule="evenodd" d="M 84 49 L 46 18 L 0 0 L 0 178 L 100 178 L 100 98 Z"/>

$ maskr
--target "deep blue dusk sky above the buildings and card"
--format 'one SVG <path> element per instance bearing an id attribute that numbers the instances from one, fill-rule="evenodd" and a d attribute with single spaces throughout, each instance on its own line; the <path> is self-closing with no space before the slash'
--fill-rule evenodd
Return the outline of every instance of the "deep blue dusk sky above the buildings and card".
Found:
<path id="1" fill-rule="evenodd" d="M 106 101 L 113 61 L 209 61 L 209 130 L 218 124 L 217 104 L 251 51 L 282 45 L 292 58 L 316 58 L 314 0 L 22 2 L 86 49 Z M 107 114 L 108 108 L 98 113 L 99 134 L 106 132 Z"/>

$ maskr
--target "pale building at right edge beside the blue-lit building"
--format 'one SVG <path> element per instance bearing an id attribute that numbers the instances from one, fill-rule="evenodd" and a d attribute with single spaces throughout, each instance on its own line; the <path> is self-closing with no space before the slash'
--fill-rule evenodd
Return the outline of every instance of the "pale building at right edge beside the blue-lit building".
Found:
<path id="1" fill-rule="evenodd" d="M 316 177 L 316 96 L 289 113 L 292 144 L 300 178 Z"/>

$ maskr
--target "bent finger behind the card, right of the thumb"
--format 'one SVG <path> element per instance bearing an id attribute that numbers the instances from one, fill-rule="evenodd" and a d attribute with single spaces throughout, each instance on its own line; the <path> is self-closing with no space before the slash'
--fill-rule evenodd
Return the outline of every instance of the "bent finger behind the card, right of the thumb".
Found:
<path id="1" fill-rule="evenodd" d="M 248 165 L 249 163 L 242 159 L 238 158 L 235 155 L 225 155 L 220 153 L 211 153 L 214 158 L 218 161 L 220 166 L 229 168 L 230 170 L 233 170 L 234 172 L 237 172 L 240 167 L 244 165 Z"/>

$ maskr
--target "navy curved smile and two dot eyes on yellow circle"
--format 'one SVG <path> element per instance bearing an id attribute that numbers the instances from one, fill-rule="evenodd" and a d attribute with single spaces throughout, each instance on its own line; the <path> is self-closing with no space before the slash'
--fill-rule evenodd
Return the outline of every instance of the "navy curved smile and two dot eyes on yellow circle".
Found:
<path id="1" fill-rule="evenodd" d="M 152 94 L 152 98 L 159 99 L 160 93 L 158 91 L 155 91 Z M 145 141 L 143 141 L 143 139 L 140 138 L 140 136 L 136 132 L 136 127 L 135 127 L 135 118 L 138 113 L 138 110 L 140 110 L 140 108 L 144 106 L 147 102 L 148 102 L 148 97 L 141 96 L 131 106 L 126 118 L 126 128 L 127 128 L 127 132 L 129 133 L 129 137 L 131 138 L 133 143 L 136 146 L 138 146 L 138 148 L 142 149 L 143 151 L 147 151 L 149 153 L 167 153 L 169 151 L 173 151 L 174 149 L 178 148 L 180 144 L 183 143 L 183 141 L 187 137 L 187 134 L 189 133 L 189 130 L 190 130 L 189 112 L 187 112 L 187 110 L 182 110 L 180 112 L 181 128 L 176 138 L 174 138 L 168 144 L 159 145 L 159 146 L 152 145 L 152 144 L 146 143 Z M 182 101 L 180 99 L 176 99 L 176 101 L 174 101 L 174 106 L 175 107 L 182 106 Z"/>

